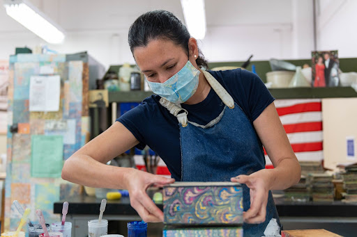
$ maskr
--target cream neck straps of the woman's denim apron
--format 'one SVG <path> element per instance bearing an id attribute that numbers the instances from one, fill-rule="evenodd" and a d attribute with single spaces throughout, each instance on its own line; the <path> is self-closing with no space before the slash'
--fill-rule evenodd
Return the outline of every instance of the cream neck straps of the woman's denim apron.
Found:
<path id="1" fill-rule="evenodd" d="M 234 108 L 234 100 L 231 97 L 231 95 L 229 95 L 227 90 L 225 90 L 225 88 L 223 88 L 223 86 L 209 72 L 206 72 L 204 70 L 202 70 L 202 72 L 204 73 L 206 80 L 211 85 L 213 90 L 217 93 L 218 97 L 222 99 L 223 103 L 225 103 L 225 105 L 228 106 L 229 108 Z M 187 126 L 188 111 L 182 108 L 181 104 L 174 104 L 171 101 L 165 99 L 164 97 L 161 97 L 160 104 L 165 108 L 167 108 L 167 110 L 172 115 L 177 117 L 177 120 L 179 120 L 179 123 L 182 124 L 183 127 Z M 180 113 L 181 111 L 183 111 L 183 113 Z"/>

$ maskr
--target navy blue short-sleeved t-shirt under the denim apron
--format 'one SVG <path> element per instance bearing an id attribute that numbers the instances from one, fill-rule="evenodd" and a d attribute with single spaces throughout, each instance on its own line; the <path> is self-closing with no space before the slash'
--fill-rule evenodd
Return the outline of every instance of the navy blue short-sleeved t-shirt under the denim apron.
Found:
<path id="1" fill-rule="evenodd" d="M 208 71 L 233 97 L 253 122 L 274 101 L 269 90 L 256 74 L 247 70 Z M 137 138 L 137 148 L 151 147 L 166 163 L 172 177 L 181 179 L 180 129 L 177 118 L 161 106 L 160 96 L 151 95 L 142 104 L 121 115 L 121 122 Z M 188 111 L 188 120 L 206 125 L 222 112 L 225 104 L 211 88 L 199 104 L 181 104 Z"/>

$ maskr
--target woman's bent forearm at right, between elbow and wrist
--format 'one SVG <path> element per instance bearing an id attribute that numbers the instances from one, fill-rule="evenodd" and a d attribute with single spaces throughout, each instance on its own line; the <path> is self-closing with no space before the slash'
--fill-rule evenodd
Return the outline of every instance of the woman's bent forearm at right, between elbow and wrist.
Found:
<path id="1" fill-rule="evenodd" d="M 284 158 L 273 169 L 259 170 L 264 173 L 269 190 L 284 190 L 298 183 L 301 167 L 296 159 Z"/>

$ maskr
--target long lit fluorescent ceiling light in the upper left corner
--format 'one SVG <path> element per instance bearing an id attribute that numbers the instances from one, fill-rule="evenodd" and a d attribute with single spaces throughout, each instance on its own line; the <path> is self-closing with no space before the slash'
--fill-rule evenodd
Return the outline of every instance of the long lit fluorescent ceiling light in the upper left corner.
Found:
<path id="1" fill-rule="evenodd" d="M 6 0 L 6 13 L 50 44 L 63 42 L 64 31 L 26 0 Z"/>

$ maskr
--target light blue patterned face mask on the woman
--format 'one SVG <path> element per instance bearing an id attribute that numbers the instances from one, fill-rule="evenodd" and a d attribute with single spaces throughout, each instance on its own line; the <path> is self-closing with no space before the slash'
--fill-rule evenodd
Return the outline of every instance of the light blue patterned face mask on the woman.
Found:
<path id="1" fill-rule="evenodd" d="M 156 95 L 160 95 L 160 97 L 164 97 L 174 104 L 181 104 L 195 94 L 198 87 L 198 79 L 199 70 L 188 60 L 179 72 L 164 83 L 151 81 L 148 81 L 148 83 Z"/>

